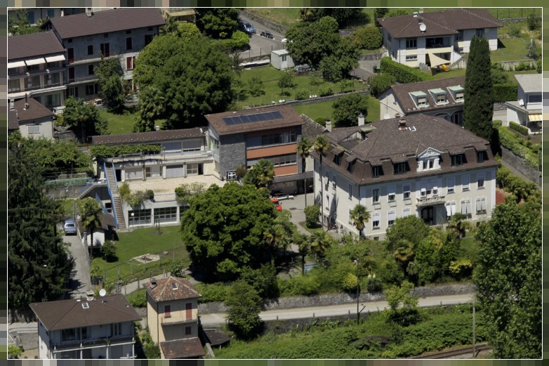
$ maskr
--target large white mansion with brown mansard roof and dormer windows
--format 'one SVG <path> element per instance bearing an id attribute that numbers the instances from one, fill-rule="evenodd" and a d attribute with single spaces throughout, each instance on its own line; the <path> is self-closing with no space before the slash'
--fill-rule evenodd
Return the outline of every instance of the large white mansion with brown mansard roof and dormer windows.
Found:
<path id="1" fill-rule="evenodd" d="M 496 204 L 496 169 L 487 140 L 440 117 L 411 115 L 326 133 L 315 158 L 315 202 L 322 220 L 352 233 L 350 211 L 371 214 L 363 234 L 379 239 L 395 220 L 416 215 L 441 225 L 461 212 L 487 219 Z"/>

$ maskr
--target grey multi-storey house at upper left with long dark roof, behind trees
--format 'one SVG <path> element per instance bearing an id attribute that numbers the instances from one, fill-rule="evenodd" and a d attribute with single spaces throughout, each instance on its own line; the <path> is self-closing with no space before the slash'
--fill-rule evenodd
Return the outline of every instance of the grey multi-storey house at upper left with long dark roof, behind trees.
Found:
<path id="1" fill-rule="evenodd" d="M 52 30 L 67 49 L 67 96 L 98 97 L 95 67 L 105 58 L 118 58 L 126 89 L 135 90 L 135 57 L 159 34 L 164 19 L 156 8 L 116 8 L 51 18 L 41 25 Z"/>

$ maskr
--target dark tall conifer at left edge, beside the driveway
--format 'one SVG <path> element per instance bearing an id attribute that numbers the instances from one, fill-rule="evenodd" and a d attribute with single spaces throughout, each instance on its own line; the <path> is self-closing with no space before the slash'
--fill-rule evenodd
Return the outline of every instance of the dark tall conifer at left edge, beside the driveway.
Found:
<path id="1" fill-rule="evenodd" d="M 43 179 L 24 145 L 8 155 L 8 305 L 57 299 L 73 261 L 55 225 L 58 202 L 44 195 Z"/>

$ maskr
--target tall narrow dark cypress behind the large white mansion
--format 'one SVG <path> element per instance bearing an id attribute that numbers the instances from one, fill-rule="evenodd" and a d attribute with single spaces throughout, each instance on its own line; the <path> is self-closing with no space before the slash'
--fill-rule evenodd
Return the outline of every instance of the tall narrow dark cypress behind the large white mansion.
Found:
<path id="1" fill-rule="evenodd" d="M 490 48 L 485 37 L 472 37 L 465 70 L 463 124 L 477 136 L 491 140 L 494 87 L 491 80 Z"/>

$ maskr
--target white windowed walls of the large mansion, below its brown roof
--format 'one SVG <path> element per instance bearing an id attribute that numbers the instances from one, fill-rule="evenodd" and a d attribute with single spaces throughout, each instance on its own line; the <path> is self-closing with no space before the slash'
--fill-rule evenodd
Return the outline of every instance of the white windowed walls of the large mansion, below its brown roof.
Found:
<path id="1" fill-rule="evenodd" d="M 436 171 L 436 162 L 433 168 Z M 371 214 L 363 235 L 381 238 L 392 224 L 390 221 L 408 215 L 423 217 L 430 225 L 442 225 L 456 212 L 468 214 L 471 221 L 489 218 L 496 205 L 496 167 L 357 185 L 324 164 L 321 172 L 315 160 L 317 204 L 321 194 L 324 223 L 335 223 L 338 228 L 358 234 L 350 211 L 362 204 Z"/>

